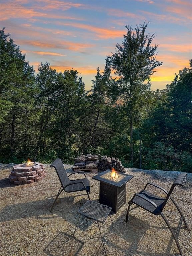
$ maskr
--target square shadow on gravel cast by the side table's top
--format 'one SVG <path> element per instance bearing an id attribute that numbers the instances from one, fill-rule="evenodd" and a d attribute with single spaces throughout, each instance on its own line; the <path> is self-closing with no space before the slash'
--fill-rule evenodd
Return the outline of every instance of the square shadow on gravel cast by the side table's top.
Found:
<path id="1" fill-rule="evenodd" d="M 71 235 L 60 232 L 44 249 L 49 256 L 77 256 L 84 242 Z"/>

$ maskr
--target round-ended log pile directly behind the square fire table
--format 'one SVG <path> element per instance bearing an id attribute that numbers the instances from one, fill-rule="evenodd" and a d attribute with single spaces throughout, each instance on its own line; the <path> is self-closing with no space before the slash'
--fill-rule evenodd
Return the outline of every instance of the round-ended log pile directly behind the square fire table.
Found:
<path id="1" fill-rule="evenodd" d="M 118 157 L 108 157 L 108 156 L 102 156 L 99 164 L 98 164 L 98 171 L 103 172 L 108 169 L 111 170 L 111 168 L 115 168 L 117 172 L 123 172 L 126 173 L 125 168 L 121 164 L 121 161 L 119 161 Z"/>

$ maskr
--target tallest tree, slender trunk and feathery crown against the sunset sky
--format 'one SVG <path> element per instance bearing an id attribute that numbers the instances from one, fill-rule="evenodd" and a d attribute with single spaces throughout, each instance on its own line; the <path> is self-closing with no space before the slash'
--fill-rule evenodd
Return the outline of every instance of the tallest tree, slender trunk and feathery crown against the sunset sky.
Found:
<path id="1" fill-rule="evenodd" d="M 156 60 L 157 46 L 151 46 L 154 34 L 145 34 L 147 24 L 127 28 L 122 45 L 117 44 L 112 56 L 108 57 L 110 68 L 115 71 L 118 78 L 117 95 L 122 98 L 126 106 L 126 114 L 129 121 L 130 135 L 130 161 L 133 163 L 133 129 L 135 113 L 138 113 L 138 95 L 143 94 L 147 85 L 143 82 L 150 80 L 154 69 L 162 65 Z"/>

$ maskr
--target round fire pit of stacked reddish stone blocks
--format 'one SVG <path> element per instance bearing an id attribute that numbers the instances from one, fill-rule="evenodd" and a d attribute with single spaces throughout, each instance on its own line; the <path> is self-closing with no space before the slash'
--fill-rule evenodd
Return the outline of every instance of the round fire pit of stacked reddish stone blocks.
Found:
<path id="1" fill-rule="evenodd" d="M 30 184 L 45 177 L 45 167 L 41 163 L 25 163 L 13 166 L 9 180 L 12 184 Z"/>

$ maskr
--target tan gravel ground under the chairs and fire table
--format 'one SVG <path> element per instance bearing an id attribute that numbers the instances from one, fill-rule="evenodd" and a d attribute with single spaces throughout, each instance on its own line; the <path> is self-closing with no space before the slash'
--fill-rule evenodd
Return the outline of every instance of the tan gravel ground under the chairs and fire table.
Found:
<path id="1" fill-rule="evenodd" d="M 75 233 L 78 209 L 86 202 L 87 196 L 81 192 L 62 192 L 52 213 L 53 196 L 60 188 L 54 168 L 46 165 L 45 178 L 33 184 L 13 185 L 9 183 L 9 173 L 13 164 L 0 165 L 0 256 L 50 255 L 50 256 L 91 256 L 97 252 L 101 240 L 97 224 L 88 220 Z M 65 165 L 71 172 L 71 165 Z M 148 171 L 128 168 L 127 173 L 134 178 L 127 183 L 126 201 L 139 192 L 147 181 L 154 182 L 169 190 L 179 172 Z M 95 174 L 86 173 L 90 180 L 91 200 L 98 201 L 99 182 L 91 179 Z M 74 179 L 81 174 L 74 174 Z M 152 190 L 153 192 L 153 190 Z M 180 231 L 179 242 L 183 256 L 192 256 L 192 174 L 188 174 L 185 186 L 176 187 L 173 198 L 182 210 L 188 229 Z M 177 246 L 160 216 L 155 216 L 138 207 L 130 211 L 128 223 L 125 216 L 128 204 L 124 204 L 112 220 L 116 230 L 111 233 L 106 250 L 108 255 L 118 256 L 176 256 Z M 179 213 L 169 201 L 164 209 L 172 227 L 177 227 Z M 111 227 L 110 218 L 101 224 L 101 232 L 106 235 Z M 98 255 L 105 255 L 102 247 Z"/>

